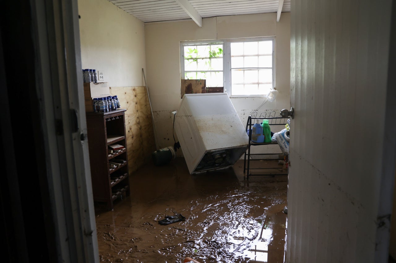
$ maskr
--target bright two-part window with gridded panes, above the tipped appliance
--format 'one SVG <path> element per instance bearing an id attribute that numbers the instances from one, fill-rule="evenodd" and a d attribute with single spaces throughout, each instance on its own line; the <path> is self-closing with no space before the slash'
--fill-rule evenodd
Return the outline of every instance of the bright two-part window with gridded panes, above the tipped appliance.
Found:
<path id="1" fill-rule="evenodd" d="M 275 87 L 274 38 L 182 42 L 181 76 L 206 79 L 230 97 L 263 97 Z"/>

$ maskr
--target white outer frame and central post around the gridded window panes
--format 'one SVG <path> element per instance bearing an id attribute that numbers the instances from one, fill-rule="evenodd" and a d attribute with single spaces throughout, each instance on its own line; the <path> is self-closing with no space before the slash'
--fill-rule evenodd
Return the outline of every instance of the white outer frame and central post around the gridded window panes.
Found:
<path id="1" fill-rule="evenodd" d="M 257 38 L 232 38 L 232 39 L 212 39 L 205 41 L 180 41 L 180 75 L 181 79 L 185 78 L 184 71 L 184 46 L 185 45 L 202 45 L 212 43 L 223 43 L 223 88 L 224 92 L 230 98 L 267 98 L 263 95 L 231 95 L 231 43 L 247 41 L 272 41 L 272 89 L 276 89 L 276 40 L 275 37 L 257 37 Z"/>

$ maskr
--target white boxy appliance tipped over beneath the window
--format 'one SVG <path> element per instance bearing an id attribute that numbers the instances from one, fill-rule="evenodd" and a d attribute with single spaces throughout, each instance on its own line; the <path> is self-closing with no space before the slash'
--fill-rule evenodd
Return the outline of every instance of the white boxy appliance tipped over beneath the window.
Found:
<path id="1" fill-rule="evenodd" d="M 227 93 L 185 94 L 174 128 L 190 174 L 234 165 L 249 143 Z"/>

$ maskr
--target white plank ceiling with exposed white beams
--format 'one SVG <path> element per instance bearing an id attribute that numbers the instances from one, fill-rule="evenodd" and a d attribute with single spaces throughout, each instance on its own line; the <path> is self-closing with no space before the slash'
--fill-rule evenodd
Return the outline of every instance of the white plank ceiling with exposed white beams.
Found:
<path id="1" fill-rule="evenodd" d="M 290 0 L 109 0 L 143 22 L 192 18 L 202 26 L 202 18 L 223 15 L 290 12 Z"/>

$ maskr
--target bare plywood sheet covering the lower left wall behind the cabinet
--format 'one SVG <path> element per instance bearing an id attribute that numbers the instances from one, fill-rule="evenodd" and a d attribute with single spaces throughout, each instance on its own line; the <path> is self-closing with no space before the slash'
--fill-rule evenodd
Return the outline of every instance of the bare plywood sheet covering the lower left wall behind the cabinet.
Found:
<path id="1" fill-rule="evenodd" d="M 129 174 L 148 162 L 156 150 L 150 103 L 146 87 L 110 87 L 125 108 L 125 130 L 128 147 Z"/>

